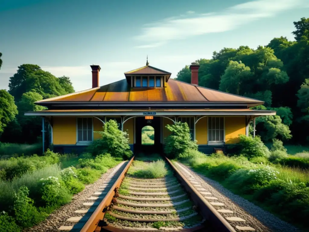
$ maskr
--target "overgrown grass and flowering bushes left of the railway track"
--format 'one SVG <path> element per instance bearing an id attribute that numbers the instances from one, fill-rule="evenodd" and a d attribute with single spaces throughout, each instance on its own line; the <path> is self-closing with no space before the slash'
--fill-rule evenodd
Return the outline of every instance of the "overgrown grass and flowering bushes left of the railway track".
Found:
<path id="1" fill-rule="evenodd" d="M 1 163 L 2 170 L 7 171 L 5 174 L 15 171 L 18 175 L 10 174 L 10 178 L 0 181 L 0 205 L 8 213 L 0 215 L 1 220 L 6 220 L 0 221 L 0 225 L 14 218 L 21 228 L 37 224 L 53 210 L 69 203 L 73 194 L 84 189 L 84 184 L 94 183 L 108 168 L 120 162 L 109 154 L 95 158 L 85 154 L 78 159 L 80 157 L 72 154 L 47 153 L 42 157 L 10 158 Z M 76 164 L 76 168 L 64 168 L 70 164 Z M 10 230 L 8 226 L 4 228 L 3 231 Z"/>

